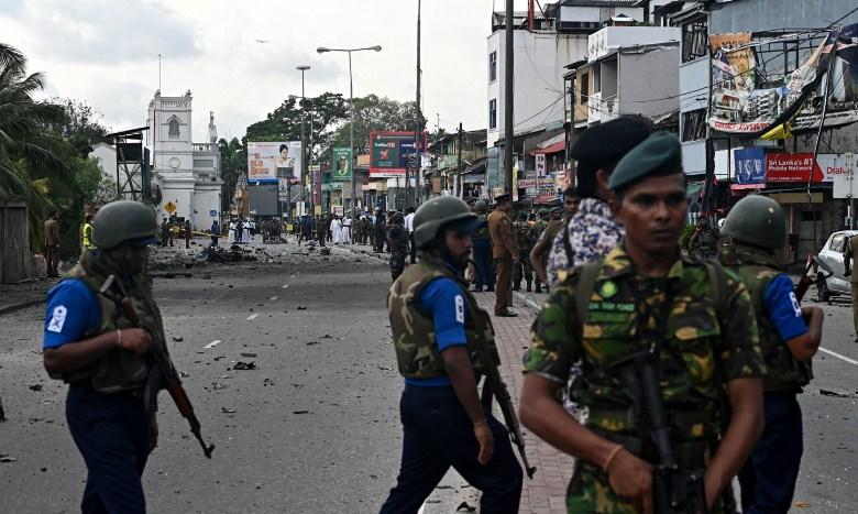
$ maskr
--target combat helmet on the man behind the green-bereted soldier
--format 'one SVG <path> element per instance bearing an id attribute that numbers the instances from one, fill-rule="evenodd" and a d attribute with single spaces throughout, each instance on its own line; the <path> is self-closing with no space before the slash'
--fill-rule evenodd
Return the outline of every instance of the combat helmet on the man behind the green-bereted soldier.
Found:
<path id="1" fill-rule="evenodd" d="M 787 245 L 787 215 L 769 197 L 746 196 L 727 215 L 722 233 L 754 247 L 783 248 Z"/>

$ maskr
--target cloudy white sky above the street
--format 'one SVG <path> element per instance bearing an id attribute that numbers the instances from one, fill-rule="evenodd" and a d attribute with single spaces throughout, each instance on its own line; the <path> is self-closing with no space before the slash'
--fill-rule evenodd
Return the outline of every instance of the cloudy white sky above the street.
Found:
<path id="1" fill-rule="evenodd" d="M 503 0 L 424 0 L 424 116 L 431 129 L 486 124 L 486 37 Z M 516 0 L 525 9 L 526 0 Z M 349 95 L 345 54 L 316 47 L 380 44 L 354 54 L 354 95 L 415 98 L 417 0 L 0 0 L 0 41 L 43 72 L 47 96 L 85 100 L 109 129 L 145 124 L 162 94 L 194 96 L 194 139 L 208 111 L 220 136 L 242 136 L 288 95 Z M 255 40 L 267 41 L 257 43 Z"/>

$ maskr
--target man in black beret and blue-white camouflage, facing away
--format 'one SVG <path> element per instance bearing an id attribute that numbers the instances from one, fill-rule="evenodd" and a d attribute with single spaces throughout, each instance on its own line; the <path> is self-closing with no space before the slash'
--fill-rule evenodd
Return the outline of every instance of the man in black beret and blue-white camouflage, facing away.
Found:
<path id="1" fill-rule="evenodd" d="M 548 256 L 548 284 L 562 282 L 574 266 L 601 259 L 623 239 L 608 201 L 608 181 L 617 162 L 647 139 L 650 125 L 639 118 L 618 118 L 585 130 L 570 155 L 578 161 L 575 177 L 581 204 L 554 238 Z"/>

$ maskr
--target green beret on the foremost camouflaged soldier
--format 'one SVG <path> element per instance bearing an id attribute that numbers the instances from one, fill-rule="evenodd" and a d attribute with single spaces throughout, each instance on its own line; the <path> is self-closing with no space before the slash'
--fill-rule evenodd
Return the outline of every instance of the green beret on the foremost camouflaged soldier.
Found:
<path id="1" fill-rule="evenodd" d="M 610 189 L 623 189 L 647 177 L 682 173 L 682 149 L 670 132 L 656 132 L 631 149 L 614 168 Z"/>

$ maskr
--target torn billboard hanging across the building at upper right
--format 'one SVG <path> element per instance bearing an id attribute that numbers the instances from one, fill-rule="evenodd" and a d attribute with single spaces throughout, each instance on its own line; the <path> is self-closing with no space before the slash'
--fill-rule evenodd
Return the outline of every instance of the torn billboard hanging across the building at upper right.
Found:
<path id="1" fill-rule="evenodd" d="M 829 69 L 834 80 L 828 89 L 825 125 L 858 121 L 856 36 L 858 24 L 828 32 L 800 66 L 778 77 L 765 68 L 766 63 L 782 62 L 796 54 L 788 56 L 781 52 L 779 56 L 776 51 L 760 52 L 758 48 L 766 42 L 756 40 L 750 33 L 710 35 L 710 127 L 721 132 L 757 136 L 771 131 L 769 139 L 784 139 L 791 131 L 818 128 L 824 103 L 821 85 Z M 809 45 L 811 40 L 806 34 L 796 34 L 789 43 L 784 47 Z M 761 63 L 761 68 L 756 63 Z"/>

